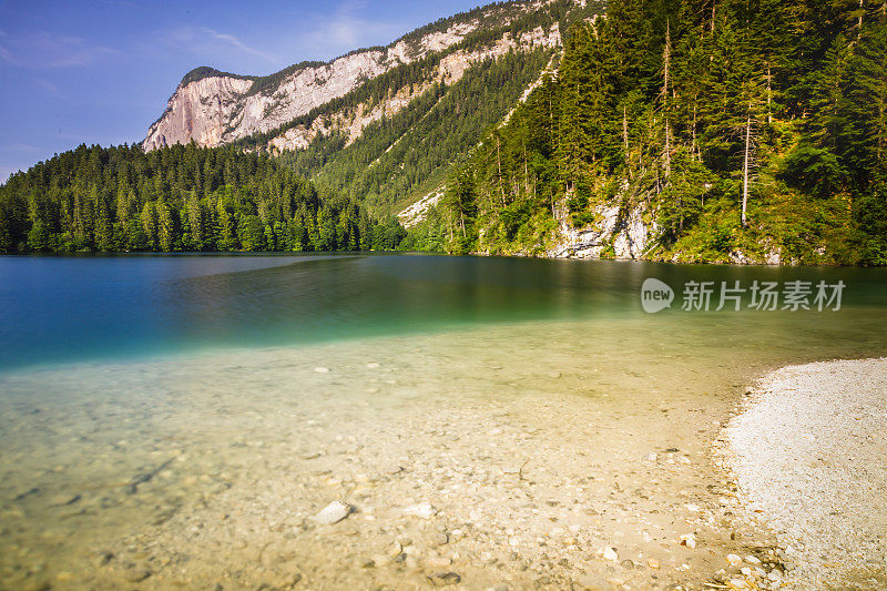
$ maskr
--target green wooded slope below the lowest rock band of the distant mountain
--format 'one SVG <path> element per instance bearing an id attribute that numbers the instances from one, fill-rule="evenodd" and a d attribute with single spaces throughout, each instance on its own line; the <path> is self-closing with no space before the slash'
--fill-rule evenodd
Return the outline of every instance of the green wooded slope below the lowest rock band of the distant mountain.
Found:
<path id="1" fill-rule="evenodd" d="M 502 120 L 551 57 L 549 50 L 537 50 L 481 63 L 452 86 L 435 83 L 350 145 L 338 134 L 323 136 L 282 159 L 318 183 L 364 201 L 370 211 L 398 211 L 417 190 L 434 188 L 483 131 Z"/>

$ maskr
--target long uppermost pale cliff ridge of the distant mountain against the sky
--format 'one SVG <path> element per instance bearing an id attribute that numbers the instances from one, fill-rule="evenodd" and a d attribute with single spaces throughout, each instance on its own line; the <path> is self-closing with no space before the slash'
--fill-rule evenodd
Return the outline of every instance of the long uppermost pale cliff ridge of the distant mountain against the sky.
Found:
<path id="1" fill-rule="evenodd" d="M 385 47 L 353 50 L 328 62 L 303 61 L 265 77 L 195 68 L 183 77 L 142 145 L 150 151 L 194 141 L 212 147 L 266 133 L 398 65 L 446 50 L 490 23 L 507 27 L 553 1 L 480 7 L 439 19 Z"/>

